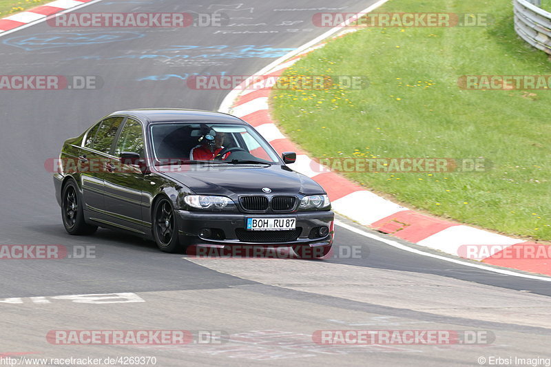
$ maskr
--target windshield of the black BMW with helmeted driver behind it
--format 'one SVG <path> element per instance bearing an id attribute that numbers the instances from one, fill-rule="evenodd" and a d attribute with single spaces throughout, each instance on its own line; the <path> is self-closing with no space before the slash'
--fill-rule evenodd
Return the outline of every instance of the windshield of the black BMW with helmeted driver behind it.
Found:
<path id="1" fill-rule="evenodd" d="M 156 123 L 151 125 L 151 137 L 157 165 L 279 162 L 273 149 L 247 125 Z"/>

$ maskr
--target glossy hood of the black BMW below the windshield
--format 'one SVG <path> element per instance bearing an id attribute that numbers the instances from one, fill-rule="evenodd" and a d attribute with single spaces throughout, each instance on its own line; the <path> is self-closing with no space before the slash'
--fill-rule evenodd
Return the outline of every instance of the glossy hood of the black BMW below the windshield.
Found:
<path id="1" fill-rule="evenodd" d="M 262 194 L 264 187 L 271 189 L 272 195 L 325 192 L 317 182 L 287 166 L 182 166 L 182 169 L 165 175 L 200 195 L 255 195 Z"/>

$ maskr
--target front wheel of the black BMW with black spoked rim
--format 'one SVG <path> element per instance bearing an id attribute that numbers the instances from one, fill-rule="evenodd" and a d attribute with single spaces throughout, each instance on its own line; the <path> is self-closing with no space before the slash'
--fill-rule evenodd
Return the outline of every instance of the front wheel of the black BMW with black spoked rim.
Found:
<path id="1" fill-rule="evenodd" d="M 158 200 L 153 213 L 153 237 L 160 251 L 183 252 L 184 246 L 178 238 L 178 222 L 171 202 L 165 198 Z"/>

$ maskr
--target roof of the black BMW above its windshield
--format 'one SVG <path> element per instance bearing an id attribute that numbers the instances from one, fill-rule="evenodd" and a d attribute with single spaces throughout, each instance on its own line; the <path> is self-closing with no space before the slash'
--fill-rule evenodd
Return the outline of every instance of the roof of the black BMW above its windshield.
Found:
<path id="1" fill-rule="evenodd" d="M 149 125 L 150 123 L 175 123 L 175 122 L 210 122 L 210 123 L 238 123 L 247 125 L 245 121 L 236 116 L 222 114 L 222 112 L 203 111 L 200 109 L 182 108 L 141 108 L 117 111 L 113 115 L 134 116 Z"/>

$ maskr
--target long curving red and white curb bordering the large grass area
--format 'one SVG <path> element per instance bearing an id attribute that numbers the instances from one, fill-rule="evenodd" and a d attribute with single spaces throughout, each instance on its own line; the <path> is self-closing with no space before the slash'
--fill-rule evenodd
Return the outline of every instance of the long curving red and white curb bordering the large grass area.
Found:
<path id="1" fill-rule="evenodd" d="M 386 0 L 379 1 L 362 13 L 369 12 L 384 2 Z M 255 74 L 253 80 L 245 81 L 230 92 L 219 111 L 233 114 L 253 125 L 279 153 L 296 151 L 297 160 L 292 165 L 293 170 L 320 183 L 329 194 L 333 210 L 355 222 L 444 253 L 472 259 L 472 251 L 467 253 L 466 247 L 471 250 L 479 249 L 476 260 L 551 275 L 551 260 L 545 256 L 541 259 L 511 256 L 517 250 L 516 247 L 519 247 L 518 250 L 525 250 L 526 247 L 537 247 L 539 244 L 426 216 L 402 207 L 320 166 L 280 132 L 269 114 L 268 98 L 271 87 L 285 69 L 313 49 L 323 47 L 324 44 L 320 42 L 340 29 L 342 25 L 264 67 Z"/>

